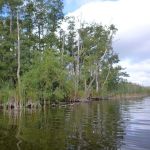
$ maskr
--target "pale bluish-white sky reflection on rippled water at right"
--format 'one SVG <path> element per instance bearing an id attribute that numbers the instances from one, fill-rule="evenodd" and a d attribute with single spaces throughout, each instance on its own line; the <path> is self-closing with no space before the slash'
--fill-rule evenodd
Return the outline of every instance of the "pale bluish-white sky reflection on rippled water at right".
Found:
<path id="1" fill-rule="evenodd" d="M 123 150 L 150 149 L 150 99 L 130 102 Z M 124 113 L 124 112 L 123 112 Z"/>

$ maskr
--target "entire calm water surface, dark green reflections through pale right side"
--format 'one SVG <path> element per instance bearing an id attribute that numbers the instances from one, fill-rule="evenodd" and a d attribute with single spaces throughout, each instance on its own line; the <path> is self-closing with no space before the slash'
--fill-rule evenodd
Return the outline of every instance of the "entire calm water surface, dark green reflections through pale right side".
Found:
<path id="1" fill-rule="evenodd" d="M 150 150 L 150 98 L 1 111 L 0 150 Z"/>

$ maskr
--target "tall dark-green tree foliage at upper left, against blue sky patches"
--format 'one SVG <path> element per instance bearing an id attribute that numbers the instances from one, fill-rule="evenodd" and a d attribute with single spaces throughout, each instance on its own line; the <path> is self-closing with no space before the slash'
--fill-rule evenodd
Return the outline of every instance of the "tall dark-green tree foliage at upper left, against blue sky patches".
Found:
<path id="1" fill-rule="evenodd" d="M 0 81 L 17 86 L 17 11 L 21 42 L 21 75 L 29 70 L 35 51 L 50 48 L 50 38 L 63 18 L 61 0 L 7 0 L 0 3 Z M 45 33 L 45 31 L 46 33 Z M 35 32 L 37 31 L 37 32 Z M 49 40 L 45 40 L 50 37 Z M 45 40 L 45 41 L 44 41 Z"/>

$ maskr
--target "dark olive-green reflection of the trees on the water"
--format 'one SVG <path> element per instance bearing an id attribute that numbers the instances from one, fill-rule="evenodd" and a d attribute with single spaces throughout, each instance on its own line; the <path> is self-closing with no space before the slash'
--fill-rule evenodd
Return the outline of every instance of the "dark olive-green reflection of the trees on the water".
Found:
<path id="1" fill-rule="evenodd" d="M 119 103 L 109 101 L 0 118 L 4 150 L 117 149 L 124 134 Z"/>

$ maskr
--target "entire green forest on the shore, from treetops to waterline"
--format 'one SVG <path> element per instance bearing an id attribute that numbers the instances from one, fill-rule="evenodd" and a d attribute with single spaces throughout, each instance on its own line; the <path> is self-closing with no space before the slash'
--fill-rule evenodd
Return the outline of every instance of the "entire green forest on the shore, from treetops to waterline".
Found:
<path id="1" fill-rule="evenodd" d="M 113 24 L 76 22 L 62 0 L 0 0 L 1 106 L 149 92 L 124 78 Z"/>

